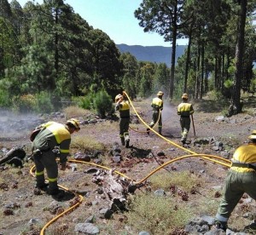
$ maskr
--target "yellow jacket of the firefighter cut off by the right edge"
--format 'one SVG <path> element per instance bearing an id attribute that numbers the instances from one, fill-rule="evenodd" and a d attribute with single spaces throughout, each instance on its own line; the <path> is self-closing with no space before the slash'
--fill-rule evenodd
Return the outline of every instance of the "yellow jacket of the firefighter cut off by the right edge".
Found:
<path id="1" fill-rule="evenodd" d="M 256 167 L 256 144 L 248 143 L 247 145 L 239 146 L 234 152 L 231 161 L 233 163 L 251 163 Z M 254 170 L 235 166 L 232 166 L 230 169 L 236 170 L 237 172 L 248 172 Z"/>

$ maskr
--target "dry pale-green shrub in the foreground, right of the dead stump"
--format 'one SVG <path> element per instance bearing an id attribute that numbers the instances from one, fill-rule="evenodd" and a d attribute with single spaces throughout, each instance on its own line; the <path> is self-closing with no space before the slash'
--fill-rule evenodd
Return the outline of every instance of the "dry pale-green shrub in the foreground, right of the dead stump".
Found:
<path id="1" fill-rule="evenodd" d="M 175 228 L 183 228 L 191 218 L 188 204 L 173 202 L 170 197 L 157 197 L 152 194 L 137 195 L 126 213 L 127 224 L 137 232 L 150 234 L 172 234 Z"/>

